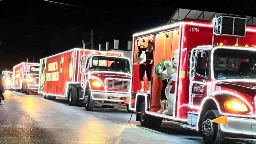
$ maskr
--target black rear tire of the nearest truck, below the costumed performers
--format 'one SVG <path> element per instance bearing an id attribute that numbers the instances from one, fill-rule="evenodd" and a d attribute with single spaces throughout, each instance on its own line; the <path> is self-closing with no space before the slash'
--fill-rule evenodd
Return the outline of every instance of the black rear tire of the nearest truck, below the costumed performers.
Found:
<path id="1" fill-rule="evenodd" d="M 143 101 L 141 104 L 140 112 L 145 114 L 145 101 Z M 141 125 L 154 128 L 159 127 L 163 121 L 161 118 L 151 117 L 149 115 L 140 115 L 139 120 Z"/>

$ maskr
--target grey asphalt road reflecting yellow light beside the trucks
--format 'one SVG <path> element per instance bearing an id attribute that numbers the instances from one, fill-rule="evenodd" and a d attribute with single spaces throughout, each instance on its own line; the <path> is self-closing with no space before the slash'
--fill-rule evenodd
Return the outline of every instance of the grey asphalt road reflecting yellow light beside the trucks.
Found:
<path id="1" fill-rule="evenodd" d="M 135 121 L 126 107 L 93 111 L 72 107 L 66 99 L 44 99 L 42 95 L 25 95 L 6 91 L 0 105 L 0 143 L 169 143 L 200 144 L 199 133 L 163 122 L 149 129 Z M 256 143 L 254 139 L 225 139 L 225 143 Z"/>

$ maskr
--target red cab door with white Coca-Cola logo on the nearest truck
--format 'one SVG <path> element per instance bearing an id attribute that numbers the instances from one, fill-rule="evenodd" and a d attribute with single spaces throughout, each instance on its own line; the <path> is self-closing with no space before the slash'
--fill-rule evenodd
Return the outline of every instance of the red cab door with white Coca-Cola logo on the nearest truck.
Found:
<path id="1" fill-rule="evenodd" d="M 190 63 L 189 105 L 200 106 L 210 88 L 210 49 L 193 49 Z"/>

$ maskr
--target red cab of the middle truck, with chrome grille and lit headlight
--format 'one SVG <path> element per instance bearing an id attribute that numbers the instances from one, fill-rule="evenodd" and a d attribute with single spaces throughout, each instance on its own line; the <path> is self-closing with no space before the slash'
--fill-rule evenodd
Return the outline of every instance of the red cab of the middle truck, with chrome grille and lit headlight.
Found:
<path id="1" fill-rule="evenodd" d="M 127 106 L 130 96 L 131 64 L 129 58 L 110 55 L 88 55 L 82 57 L 83 95 L 86 110 L 94 104 L 104 108 Z"/>

